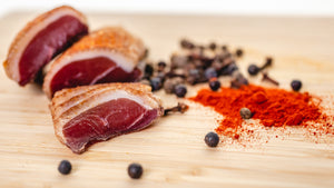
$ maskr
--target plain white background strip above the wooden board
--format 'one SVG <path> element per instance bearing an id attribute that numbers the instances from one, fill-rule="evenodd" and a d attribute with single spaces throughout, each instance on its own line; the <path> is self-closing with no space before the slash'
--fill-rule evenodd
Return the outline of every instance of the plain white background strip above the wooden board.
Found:
<path id="1" fill-rule="evenodd" d="M 69 4 L 81 11 L 334 17 L 334 0 L 1 0 L 0 16 Z"/>

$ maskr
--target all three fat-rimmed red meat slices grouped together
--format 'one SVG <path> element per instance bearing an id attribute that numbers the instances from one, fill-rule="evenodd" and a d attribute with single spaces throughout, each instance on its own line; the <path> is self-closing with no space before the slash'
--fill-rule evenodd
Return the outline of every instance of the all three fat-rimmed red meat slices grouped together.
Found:
<path id="1" fill-rule="evenodd" d="M 82 13 L 59 7 L 19 32 L 3 66 L 10 79 L 24 86 L 57 55 L 48 66 L 43 91 L 49 98 L 55 96 L 50 109 L 56 136 L 73 152 L 140 130 L 163 115 L 150 87 L 120 83 L 139 79 L 145 55 L 141 40 L 122 28 L 88 33 Z"/>

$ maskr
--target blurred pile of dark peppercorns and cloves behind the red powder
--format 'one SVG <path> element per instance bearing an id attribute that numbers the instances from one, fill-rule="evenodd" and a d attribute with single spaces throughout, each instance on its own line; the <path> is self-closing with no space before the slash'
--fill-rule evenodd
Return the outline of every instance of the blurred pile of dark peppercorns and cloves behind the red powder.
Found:
<path id="1" fill-rule="evenodd" d="M 160 61 L 156 67 L 147 63 L 141 82 L 150 85 L 153 91 L 164 89 L 179 98 L 187 93 L 186 83 L 194 86 L 209 82 L 213 90 L 218 90 L 219 76 L 230 76 L 233 88 L 248 85 L 236 63 L 236 59 L 244 53 L 242 49 L 230 52 L 227 46 L 218 46 L 215 42 L 200 46 L 186 39 L 180 41 L 180 47 L 183 50 L 170 57 L 170 63 Z"/>

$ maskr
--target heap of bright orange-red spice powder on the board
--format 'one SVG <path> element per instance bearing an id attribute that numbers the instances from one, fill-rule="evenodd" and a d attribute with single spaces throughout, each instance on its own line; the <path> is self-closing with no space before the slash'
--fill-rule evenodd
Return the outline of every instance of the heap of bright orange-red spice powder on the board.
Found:
<path id="1" fill-rule="evenodd" d="M 220 88 L 220 91 L 202 89 L 197 96 L 189 98 L 207 107 L 225 118 L 219 121 L 216 131 L 235 139 L 239 138 L 243 119 L 239 110 L 248 108 L 253 119 L 258 119 L 266 127 L 307 126 L 326 119 L 320 108 L 321 99 L 308 92 L 294 92 L 284 89 L 243 86 L 239 89 Z"/>

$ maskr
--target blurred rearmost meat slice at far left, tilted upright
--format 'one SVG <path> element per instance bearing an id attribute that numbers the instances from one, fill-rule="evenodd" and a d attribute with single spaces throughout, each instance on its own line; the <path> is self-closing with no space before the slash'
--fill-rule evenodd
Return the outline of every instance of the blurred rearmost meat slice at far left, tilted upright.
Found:
<path id="1" fill-rule="evenodd" d="M 29 22 L 10 46 L 3 62 L 9 78 L 24 86 L 53 57 L 88 33 L 84 14 L 71 7 L 50 10 Z"/>

